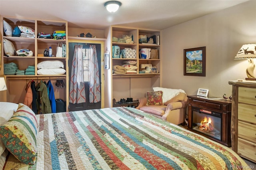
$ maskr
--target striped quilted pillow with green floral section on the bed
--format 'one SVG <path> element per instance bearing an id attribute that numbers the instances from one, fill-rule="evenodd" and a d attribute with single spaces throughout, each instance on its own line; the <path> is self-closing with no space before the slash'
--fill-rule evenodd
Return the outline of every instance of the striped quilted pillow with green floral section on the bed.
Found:
<path id="1" fill-rule="evenodd" d="M 6 148 L 21 162 L 35 164 L 38 123 L 34 112 L 19 103 L 10 120 L 0 126 L 0 138 Z"/>

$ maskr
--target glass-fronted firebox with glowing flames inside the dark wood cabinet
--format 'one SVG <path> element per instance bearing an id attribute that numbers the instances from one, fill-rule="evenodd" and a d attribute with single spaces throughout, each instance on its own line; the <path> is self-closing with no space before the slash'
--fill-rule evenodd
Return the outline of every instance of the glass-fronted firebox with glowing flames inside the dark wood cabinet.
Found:
<path id="1" fill-rule="evenodd" d="M 221 113 L 192 108 L 192 129 L 221 141 Z"/>

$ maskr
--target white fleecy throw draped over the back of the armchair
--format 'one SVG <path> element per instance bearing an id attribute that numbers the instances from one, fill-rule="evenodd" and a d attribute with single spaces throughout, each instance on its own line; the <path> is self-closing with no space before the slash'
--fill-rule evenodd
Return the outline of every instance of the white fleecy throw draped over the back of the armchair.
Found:
<path id="1" fill-rule="evenodd" d="M 162 95 L 163 103 L 165 103 L 166 101 L 172 99 L 173 97 L 175 97 L 179 93 L 186 93 L 182 89 L 168 89 L 168 88 L 163 88 L 163 87 L 153 87 L 153 90 L 154 91 L 162 91 L 163 92 L 163 95 Z"/>

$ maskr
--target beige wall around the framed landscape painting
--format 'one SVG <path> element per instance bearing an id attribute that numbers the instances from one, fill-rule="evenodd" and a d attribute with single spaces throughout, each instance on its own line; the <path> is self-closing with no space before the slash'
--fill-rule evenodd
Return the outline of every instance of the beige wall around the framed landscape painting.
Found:
<path id="1" fill-rule="evenodd" d="M 256 1 L 209 14 L 162 31 L 162 87 L 196 95 L 230 95 L 230 80 L 245 79 L 247 60 L 234 60 L 244 43 L 256 43 Z M 183 49 L 206 46 L 206 77 L 183 75 Z M 254 59 L 256 63 L 256 59 Z M 256 75 L 256 70 L 254 70 Z"/>

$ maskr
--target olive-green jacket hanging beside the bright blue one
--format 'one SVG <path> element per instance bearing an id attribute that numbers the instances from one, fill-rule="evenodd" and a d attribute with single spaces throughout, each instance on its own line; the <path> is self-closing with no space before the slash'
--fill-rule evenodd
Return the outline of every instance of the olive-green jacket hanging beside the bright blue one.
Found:
<path id="1" fill-rule="evenodd" d="M 39 85 L 40 88 L 37 91 L 40 92 L 40 114 L 52 113 L 47 86 L 42 80 Z"/>

